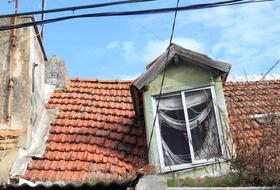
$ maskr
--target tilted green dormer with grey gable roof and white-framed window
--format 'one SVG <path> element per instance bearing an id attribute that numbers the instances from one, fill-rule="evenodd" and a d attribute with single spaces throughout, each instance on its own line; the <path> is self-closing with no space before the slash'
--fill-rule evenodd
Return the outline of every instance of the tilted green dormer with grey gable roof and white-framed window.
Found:
<path id="1" fill-rule="evenodd" d="M 218 162 L 227 168 L 223 158 L 232 149 L 231 137 L 224 134 L 228 118 L 223 83 L 230 67 L 172 44 L 133 82 L 134 107 L 139 116 L 143 110 L 150 137 L 149 163 L 158 173 L 195 167 L 207 172 L 206 165 Z"/>

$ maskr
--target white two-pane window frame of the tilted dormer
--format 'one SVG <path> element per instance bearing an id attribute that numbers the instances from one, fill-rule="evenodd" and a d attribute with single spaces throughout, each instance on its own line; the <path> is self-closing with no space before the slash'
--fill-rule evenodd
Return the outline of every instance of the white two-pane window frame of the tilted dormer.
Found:
<path id="1" fill-rule="evenodd" d="M 199 90 L 206 90 L 210 89 L 211 91 L 211 96 L 212 96 L 212 101 L 213 101 L 213 108 L 214 108 L 214 113 L 215 113 L 215 119 L 217 123 L 217 130 L 218 130 L 218 135 L 219 135 L 219 143 L 220 143 L 220 148 L 221 148 L 221 158 L 226 155 L 225 151 L 225 143 L 224 143 L 224 136 L 223 136 L 223 130 L 221 126 L 221 119 L 220 119 L 220 114 L 217 108 L 217 101 L 216 101 L 216 93 L 215 93 L 215 88 L 214 85 L 207 86 L 207 87 L 201 87 L 201 88 L 193 88 L 190 90 L 183 90 L 180 92 L 174 92 L 174 93 L 169 93 L 166 95 L 163 95 L 164 97 L 168 96 L 175 96 L 175 95 L 180 95 L 183 103 L 183 108 L 184 108 L 184 115 L 185 115 L 185 121 L 186 121 L 186 127 L 187 127 L 187 132 L 188 132 L 188 139 L 192 141 L 191 137 L 191 131 L 190 131 L 190 126 L 189 126 L 189 118 L 188 118 L 188 112 L 187 112 L 187 105 L 186 105 L 186 99 L 185 99 L 185 93 L 186 92 L 193 92 L 193 91 L 199 91 Z M 153 113 L 154 115 L 156 114 L 156 107 L 157 107 L 157 96 L 152 97 L 152 107 L 153 107 Z M 194 158 L 194 150 L 192 146 L 192 142 L 189 142 L 189 148 L 190 148 L 190 154 L 191 154 L 191 163 L 185 163 L 185 164 L 178 164 L 174 166 L 165 166 L 164 164 L 164 154 L 162 150 L 162 143 L 161 143 L 161 133 L 160 133 L 160 125 L 159 125 L 159 120 L 158 120 L 158 114 L 156 114 L 156 138 L 157 138 L 157 144 L 158 144 L 158 152 L 159 152 L 159 160 L 160 160 L 160 167 L 161 167 L 161 172 L 168 172 L 168 171 L 175 171 L 175 170 L 182 170 L 182 169 L 187 169 L 187 168 L 193 168 L 197 166 L 202 166 L 202 165 L 207 165 L 210 163 L 214 163 L 217 160 L 217 158 L 212 158 L 212 159 L 200 159 L 200 160 L 195 160 Z"/>

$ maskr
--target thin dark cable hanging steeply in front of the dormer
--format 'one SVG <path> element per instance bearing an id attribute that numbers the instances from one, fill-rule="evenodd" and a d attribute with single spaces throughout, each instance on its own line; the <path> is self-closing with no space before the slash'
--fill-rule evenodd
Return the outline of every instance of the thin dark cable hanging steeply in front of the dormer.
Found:
<path id="1" fill-rule="evenodd" d="M 156 124 L 156 118 L 157 118 L 157 115 L 158 115 L 159 102 L 160 102 L 160 98 L 161 98 L 161 95 L 162 95 L 162 88 L 163 88 L 164 78 L 165 78 L 165 74 L 166 74 L 166 70 L 167 70 L 166 68 L 167 68 L 167 65 L 168 65 L 168 58 L 169 58 L 170 48 L 171 48 L 171 44 L 172 44 L 172 40 L 173 40 L 174 30 L 175 30 L 179 1 L 180 0 L 177 0 L 176 9 L 175 9 L 175 13 L 174 13 L 172 30 L 171 30 L 171 35 L 170 35 L 170 40 L 169 40 L 169 45 L 168 45 L 168 50 L 167 50 L 167 55 L 166 55 L 166 64 L 165 64 L 164 69 L 163 69 L 163 75 L 162 75 L 161 84 L 160 84 L 160 91 L 159 91 L 159 96 L 158 96 L 158 101 L 157 101 L 156 113 L 155 113 L 155 116 L 154 116 L 152 131 L 151 131 L 150 138 L 149 138 L 148 152 L 150 151 L 152 137 L 153 137 L 155 124 Z"/>

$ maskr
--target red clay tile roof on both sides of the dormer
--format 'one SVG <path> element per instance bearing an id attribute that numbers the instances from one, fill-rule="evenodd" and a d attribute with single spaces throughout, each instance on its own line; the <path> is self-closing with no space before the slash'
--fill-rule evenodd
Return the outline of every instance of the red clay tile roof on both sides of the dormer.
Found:
<path id="1" fill-rule="evenodd" d="M 146 137 L 143 118 L 135 115 L 132 81 L 71 79 L 54 92 L 48 108 L 60 113 L 51 124 L 48 147 L 34 157 L 23 176 L 31 181 L 122 180 L 143 167 Z M 257 143 L 261 136 L 254 114 L 280 112 L 280 80 L 227 82 L 224 87 L 234 139 Z"/>

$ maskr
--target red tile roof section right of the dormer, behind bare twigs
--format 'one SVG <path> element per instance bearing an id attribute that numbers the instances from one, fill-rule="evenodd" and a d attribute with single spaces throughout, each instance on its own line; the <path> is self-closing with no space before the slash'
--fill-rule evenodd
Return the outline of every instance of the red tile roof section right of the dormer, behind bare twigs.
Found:
<path id="1" fill-rule="evenodd" d="M 280 112 L 280 80 L 227 82 L 224 92 L 233 139 L 239 144 L 258 143 L 263 128 L 254 118 Z"/>

